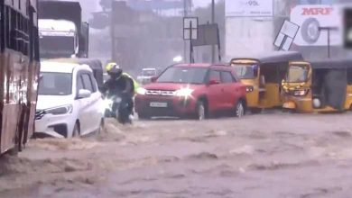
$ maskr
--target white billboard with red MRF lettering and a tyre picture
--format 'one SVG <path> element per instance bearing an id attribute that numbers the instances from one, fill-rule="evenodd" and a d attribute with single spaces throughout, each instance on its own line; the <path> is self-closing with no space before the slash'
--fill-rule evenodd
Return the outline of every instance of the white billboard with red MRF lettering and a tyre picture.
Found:
<path id="1" fill-rule="evenodd" d="M 320 28 L 334 28 L 330 33 L 330 44 L 342 44 L 340 7 L 324 4 L 298 5 L 292 9 L 291 22 L 301 26 L 294 43 L 298 46 L 327 46 L 328 31 Z"/>

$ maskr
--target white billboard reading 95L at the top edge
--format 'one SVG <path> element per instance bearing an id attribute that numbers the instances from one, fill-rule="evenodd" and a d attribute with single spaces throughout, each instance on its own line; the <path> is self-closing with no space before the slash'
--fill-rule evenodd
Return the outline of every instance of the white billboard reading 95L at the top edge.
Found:
<path id="1" fill-rule="evenodd" d="M 273 0 L 226 0 L 226 16 L 273 16 Z"/>

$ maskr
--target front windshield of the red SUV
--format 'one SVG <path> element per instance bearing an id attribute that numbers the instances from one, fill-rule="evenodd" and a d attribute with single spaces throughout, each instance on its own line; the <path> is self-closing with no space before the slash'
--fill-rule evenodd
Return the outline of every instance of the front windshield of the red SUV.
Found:
<path id="1" fill-rule="evenodd" d="M 158 83 L 204 84 L 208 69 L 204 67 L 170 67 Z"/>

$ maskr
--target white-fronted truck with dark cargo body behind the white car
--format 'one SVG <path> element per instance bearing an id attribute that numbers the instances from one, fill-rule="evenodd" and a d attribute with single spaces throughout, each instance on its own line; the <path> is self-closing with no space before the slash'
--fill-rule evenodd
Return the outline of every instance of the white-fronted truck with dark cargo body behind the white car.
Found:
<path id="1" fill-rule="evenodd" d="M 79 2 L 39 2 L 41 58 L 88 58 L 88 30 Z"/>

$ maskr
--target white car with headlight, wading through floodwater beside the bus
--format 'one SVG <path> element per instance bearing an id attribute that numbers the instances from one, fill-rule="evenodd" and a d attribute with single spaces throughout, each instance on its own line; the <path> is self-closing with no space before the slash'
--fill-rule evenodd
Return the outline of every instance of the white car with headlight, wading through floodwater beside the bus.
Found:
<path id="1" fill-rule="evenodd" d="M 70 138 L 104 126 L 104 103 L 87 65 L 42 62 L 35 135 Z"/>

